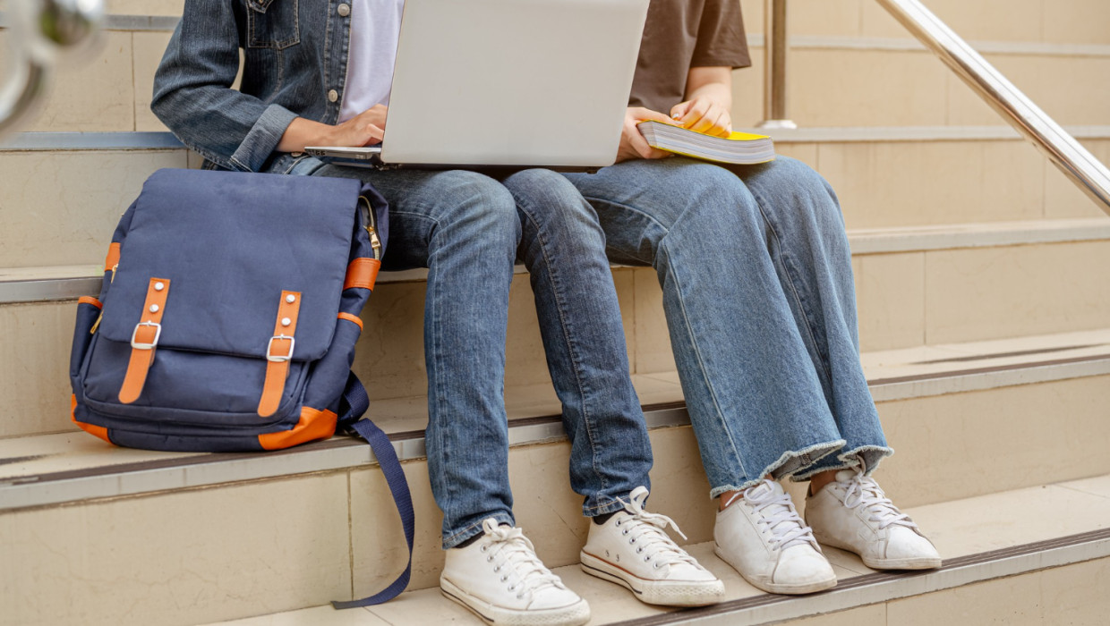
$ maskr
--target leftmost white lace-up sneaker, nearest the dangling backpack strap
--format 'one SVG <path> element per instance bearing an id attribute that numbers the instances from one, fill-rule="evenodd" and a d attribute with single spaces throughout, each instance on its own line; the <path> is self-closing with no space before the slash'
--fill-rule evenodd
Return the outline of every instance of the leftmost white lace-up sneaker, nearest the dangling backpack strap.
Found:
<path id="1" fill-rule="evenodd" d="M 440 576 L 443 595 L 488 624 L 566 625 L 589 620 L 589 605 L 563 585 L 536 556 L 521 528 L 482 522 L 485 535 L 447 551 Z"/>

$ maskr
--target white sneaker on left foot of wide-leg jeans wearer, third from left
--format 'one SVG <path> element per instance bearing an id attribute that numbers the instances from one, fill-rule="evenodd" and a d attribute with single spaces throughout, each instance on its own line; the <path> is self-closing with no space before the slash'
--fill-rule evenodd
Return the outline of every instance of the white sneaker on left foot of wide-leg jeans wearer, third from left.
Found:
<path id="1" fill-rule="evenodd" d="M 744 579 L 774 594 L 836 586 L 836 574 L 783 485 L 764 480 L 717 513 L 716 553 Z"/>

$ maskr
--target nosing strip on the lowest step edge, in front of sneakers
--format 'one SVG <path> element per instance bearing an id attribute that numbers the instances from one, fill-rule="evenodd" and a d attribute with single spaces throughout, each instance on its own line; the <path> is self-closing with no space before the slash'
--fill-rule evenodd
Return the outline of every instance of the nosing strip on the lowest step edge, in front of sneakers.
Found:
<path id="1" fill-rule="evenodd" d="M 862 574 L 808 596 L 763 594 L 610 626 L 736 626 L 797 619 L 1106 557 L 1110 557 L 1110 528 L 948 558 L 939 569 Z"/>

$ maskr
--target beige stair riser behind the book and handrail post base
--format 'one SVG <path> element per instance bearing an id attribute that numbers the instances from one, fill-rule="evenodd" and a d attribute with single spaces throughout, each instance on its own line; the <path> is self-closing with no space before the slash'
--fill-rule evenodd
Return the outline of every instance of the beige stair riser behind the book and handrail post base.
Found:
<path id="1" fill-rule="evenodd" d="M 1100 13 L 1110 19 L 1110 10 L 1100 7 L 1094 14 L 1088 16 L 1087 21 L 1097 22 L 1096 16 Z M 1036 19 L 1039 14 L 1039 11 L 1026 13 L 1030 24 L 1039 23 Z M 801 28 L 793 30 L 793 33 L 804 38 L 807 21 L 801 20 Z M 862 37 L 911 40 L 904 30 L 887 35 L 865 33 Z M 1080 37 L 1063 43 L 1082 43 Z M 95 55 L 58 72 L 50 102 L 28 130 L 164 130 L 150 112 L 150 101 L 154 72 L 169 39 L 170 32 L 164 30 L 108 31 Z M 866 45 L 866 42 L 850 39 L 821 41 L 797 40 L 790 51 L 788 113 L 800 125 L 1000 123 L 988 105 L 925 50 L 850 49 L 846 43 Z M 983 55 L 1057 122 L 1107 123 L 1102 103 L 1110 100 L 1110 85 L 1106 81 L 1082 81 L 1076 76 L 1107 75 L 1110 73 L 1110 57 L 1104 51 L 1094 55 L 1046 54 L 1036 48 L 1038 43 L 1037 38 L 1019 40 L 1006 53 L 986 51 Z M 763 116 L 761 48 L 753 48 L 751 61 L 753 66 L 737 71 L 734 79 L 733 117 L 745 126 L 758 123 Z"/>

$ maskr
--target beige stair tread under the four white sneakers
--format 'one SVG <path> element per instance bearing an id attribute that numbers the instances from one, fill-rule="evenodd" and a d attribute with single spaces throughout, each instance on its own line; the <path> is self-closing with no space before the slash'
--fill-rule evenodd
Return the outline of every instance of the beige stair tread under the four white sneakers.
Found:
<path id="1" fill-rule="evenodd" d="M 1019 565 L 1019 571 L 1050 566 L 1051 564 L 1037 563 L 1037 554 L 1048 550 L 1047 546 L 1038 545 L 1041 542 L 1110 528 L 1110 474 L 928 504 L 908 509 L 906 512 L 921 525 L 937 545 L 945 557 L 945 567 L 931 573 L 896 574 L 877 579 L 878 576 L 871 576 L 876 572 L 865 566 L 855 554 L 826 547 L 826 556 L 837 573 L 838 588 L 841 591 L 854 584 L 876 578 L 870 581 L 868 588 L 857 589 L 857 597 L 850 601 L 852 604 L 849 606 L 952 586 L 950 578 L 953 564 L 960 564 L 965 577 L 970 576 L 972 579 L 997 577 L 999 574 L 993 569 L 993 564 L 1001 557 L 990 553 L 1000 548 L 1029 547 L 1029 552 L 1033 555 L 1025 557 L 1026 563 Z M 1110 535 L 1103 538 L 1101 544 L 1110 544 Z M 686 547 L 725 583 L 725 603 L 753 601 L 746 603 L 753 604 L 759 599 L 775 602 L 775 608 L 779 614 L 767 617 L 765 612 L 766 620 L 824 613 L 829 609 L 829 596 L 837 592 L 833 589 L 833 593 L 797 597 L 765 594 L 748 585 L 729 565 L 717 558 L 713 554 L 713 542 Z M 1100 550 L 1100 553 L 1091 553 L 1087 557 L 1104 556 L 1110 546 L 1102 545 Z M 976 557 L 979 556 L 981 558 L 978 561 L 982 562 L 976 563 Z M 1021 558 L 1021 556 L 1010 558 Z M 589 623 L 592 625 L 658 616 L 675 610 L 642 604 L 623 587 L 588 576 L 577 565 L 558 567 L 555 573 L 567 586 L 589 602 L 593 613 Z M 865 576 L 869 578 L 864 578 Z M 737 607 L 737 610 L 743 608 Z M 448 622 L 480 623 L 467 610 L 441 596 L 437 588 L 427 588 L 408 591 L 384 605 L 363 609 L 344 612 L 334 610 L 330 606 L 320 606 L 219 624 L 229 626 L 411 624 L 415 626 Z"/>

